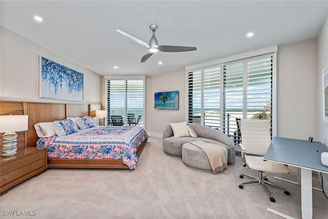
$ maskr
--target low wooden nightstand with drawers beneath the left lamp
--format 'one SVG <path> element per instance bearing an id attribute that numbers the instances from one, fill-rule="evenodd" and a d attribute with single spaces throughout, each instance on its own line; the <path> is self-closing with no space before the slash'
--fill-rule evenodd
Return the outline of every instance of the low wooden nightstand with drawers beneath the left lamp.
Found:
<path id="1" fill-rule="evenodd" d="M 0 195 L 9 188 L 32 176 L 39 175 L 48 169 L 47 149 L 24 147 L 17 150 L 14 156 L 0 158 L 1 187 Z"/>

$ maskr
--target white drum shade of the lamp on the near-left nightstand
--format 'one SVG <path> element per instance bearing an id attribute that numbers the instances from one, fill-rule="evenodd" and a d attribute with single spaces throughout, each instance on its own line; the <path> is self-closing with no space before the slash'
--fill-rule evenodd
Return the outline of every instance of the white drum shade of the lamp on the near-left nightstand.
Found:
<path id="1" fill-rule="evenodd" d="M 0 133 L 25 131 L 28 115 L 0 115 Z"/>

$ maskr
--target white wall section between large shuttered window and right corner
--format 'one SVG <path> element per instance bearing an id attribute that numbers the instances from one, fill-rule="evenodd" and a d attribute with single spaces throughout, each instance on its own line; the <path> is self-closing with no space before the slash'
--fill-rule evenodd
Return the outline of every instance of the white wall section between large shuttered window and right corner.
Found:
<path id="1" fill-rule="evenodd" d="M 278 46 L 277 136 L 317 137 L 316 39 Z"/>

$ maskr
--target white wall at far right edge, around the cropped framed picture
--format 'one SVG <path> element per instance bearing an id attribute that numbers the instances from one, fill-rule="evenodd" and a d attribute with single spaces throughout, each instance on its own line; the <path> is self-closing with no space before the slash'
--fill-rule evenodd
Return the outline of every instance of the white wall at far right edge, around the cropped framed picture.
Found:
<path id="1" fill-rule="evenodd" d="M 328 68 L 328 15 L 317 40 L 317 136 L 318 141 L 328 146 L 328 124 L 323 122 L 322 71 Z M 318 178 L 321 179 L 318 173 Z M 323 174 L 324 190 L 328 195 L 328 174 Z"/>

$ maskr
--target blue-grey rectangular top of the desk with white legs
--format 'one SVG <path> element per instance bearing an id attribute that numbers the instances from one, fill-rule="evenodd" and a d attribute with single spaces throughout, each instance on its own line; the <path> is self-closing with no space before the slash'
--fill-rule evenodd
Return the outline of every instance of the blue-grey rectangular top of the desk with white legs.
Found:
<path id="1" fill-rule="evenodd" d="M 321 142 L 274 137 L 264 160 L 328 173 L 328 167 L 321 164 L 322 152 L 328 152 L 328 148 Z"/>

